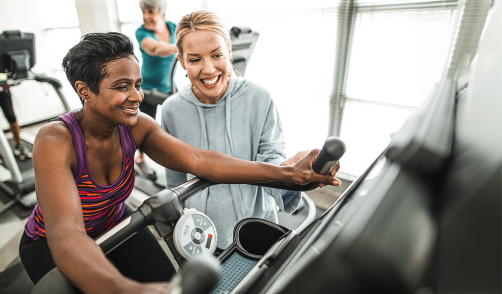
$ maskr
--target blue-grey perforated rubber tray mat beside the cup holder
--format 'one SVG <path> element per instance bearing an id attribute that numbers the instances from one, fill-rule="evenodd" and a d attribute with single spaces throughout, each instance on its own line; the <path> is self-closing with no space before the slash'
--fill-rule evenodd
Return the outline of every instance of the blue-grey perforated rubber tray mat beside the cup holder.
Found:
<path id="1" fill-rule="evenodd" d="M 233 253 L 220 267 L 220 280 L 211 294 L 225 294 L 246 275 L 258 261 Z"/>

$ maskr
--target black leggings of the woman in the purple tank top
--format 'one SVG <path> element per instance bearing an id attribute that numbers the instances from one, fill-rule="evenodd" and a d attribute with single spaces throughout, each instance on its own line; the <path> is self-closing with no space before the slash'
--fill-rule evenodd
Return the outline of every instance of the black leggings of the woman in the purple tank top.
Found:
<path id="1" fill-rule="evenodd" d="M 21 237 L 19 256 L 28 276 L 36 284 L 56 267 L 47 240 Z M 123 275 L 140 282 L 167 281 L 175 270 L 157 239 L 144 228 L 106 255 Z"/>

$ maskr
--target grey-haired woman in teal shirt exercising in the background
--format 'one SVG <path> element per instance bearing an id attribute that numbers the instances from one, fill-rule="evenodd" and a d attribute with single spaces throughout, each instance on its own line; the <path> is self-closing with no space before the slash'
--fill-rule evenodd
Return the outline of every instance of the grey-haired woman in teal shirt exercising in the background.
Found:
<path id="1" fill-rule="evenodd" d="M 166 21 L 166 0 L 140 0 L 144 25 L 136 31 L 136 39 L 140 44 L 143 63 L 141 75 L 142 88 L 151 90 L 156 88 L 166 94 L 171 93 L 169 68 L 176 61 L 176 45 L 174 32 L 176 24 Z M 146 101 L 145 101 L 146 102 Z M 155 119 L 157 105 L 141 103 L 140 110 Z M 145 163 L 142 149 L 135 157 L 135 170 L 142 178 L 155 180 L 156 173 Z"/>

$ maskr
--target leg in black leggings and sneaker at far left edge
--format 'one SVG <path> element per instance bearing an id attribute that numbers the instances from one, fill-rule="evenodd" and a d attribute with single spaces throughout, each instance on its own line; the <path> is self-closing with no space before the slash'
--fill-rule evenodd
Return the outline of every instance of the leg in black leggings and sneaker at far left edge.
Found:
<path id="1" fill-rule="evenodd" d="M 0 73 L 0 107 L 4 111 L 4 115 L 9 121 L 9 130 L 14 138 L 16 144 L 13 153 L 20 160 L 27 160 L 32 158 L 32 153 L 21 141 L 20 130 L 14 108 L 12 107 L 12 95 L 9 85 L 6 83 L 7 77 L 5 74 Z"/>

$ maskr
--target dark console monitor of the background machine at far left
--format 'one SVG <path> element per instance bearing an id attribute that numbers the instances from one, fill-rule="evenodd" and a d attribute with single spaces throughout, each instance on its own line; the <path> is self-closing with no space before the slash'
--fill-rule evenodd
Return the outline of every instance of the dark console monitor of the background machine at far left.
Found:
<path id="1" fill-rule="evenodd" d="M 15 60 L 29 58 L 28 68 L 22 67 L 26 72 L 35 65 L 35 35 L 20 31 L 5 31 L 0 35 L 0 72 L 16 73 L 20 67 Z M 23 62 L 24 65 L 24 61 Z"/>

